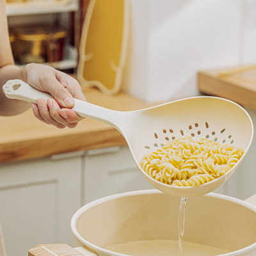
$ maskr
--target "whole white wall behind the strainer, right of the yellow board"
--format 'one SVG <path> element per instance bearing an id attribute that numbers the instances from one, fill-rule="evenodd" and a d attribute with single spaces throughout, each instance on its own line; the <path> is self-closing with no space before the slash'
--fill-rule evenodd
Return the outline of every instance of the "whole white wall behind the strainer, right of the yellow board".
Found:
<path id="1" fill-rule="evenodd" d="M 256 60 L 256 0 L 131 0 L 124 90 L 147 102 L 198 95 L 196 72 Z"/>

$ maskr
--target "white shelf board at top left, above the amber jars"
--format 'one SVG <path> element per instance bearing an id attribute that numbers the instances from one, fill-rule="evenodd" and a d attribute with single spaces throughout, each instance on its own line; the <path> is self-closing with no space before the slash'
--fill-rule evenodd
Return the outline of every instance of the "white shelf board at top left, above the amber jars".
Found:
<path id="1" fill-rule="evenodd" d="M 77 10 L 79 10 L 78 0 L 26 1 L 6 4 L 7 16 L 76 12 Z"/>

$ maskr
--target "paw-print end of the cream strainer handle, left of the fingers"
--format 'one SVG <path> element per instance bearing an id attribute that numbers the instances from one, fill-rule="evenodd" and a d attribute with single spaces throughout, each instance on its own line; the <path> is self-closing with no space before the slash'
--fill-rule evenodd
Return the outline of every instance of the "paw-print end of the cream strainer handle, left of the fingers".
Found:
<path id="1" fill-rule="evenodd" d="M 3 86 L 3 92 L 9 99 L 24 100 L 36 103 L 36 99 L 53 99 L 49 93 L 40 92 L 22 80 L 9 80 Z"/>

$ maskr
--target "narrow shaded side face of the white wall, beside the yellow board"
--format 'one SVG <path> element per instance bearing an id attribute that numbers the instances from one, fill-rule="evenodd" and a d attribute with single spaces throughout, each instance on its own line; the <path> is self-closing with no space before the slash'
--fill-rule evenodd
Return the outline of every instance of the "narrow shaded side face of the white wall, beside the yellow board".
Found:
<path id="1" fill-rule="evenodd" d="M 129 51 L 124 72 L 123 88 L 139 99 L 147 99 L 148 76 L 148 0 L 131 0 Z"/>

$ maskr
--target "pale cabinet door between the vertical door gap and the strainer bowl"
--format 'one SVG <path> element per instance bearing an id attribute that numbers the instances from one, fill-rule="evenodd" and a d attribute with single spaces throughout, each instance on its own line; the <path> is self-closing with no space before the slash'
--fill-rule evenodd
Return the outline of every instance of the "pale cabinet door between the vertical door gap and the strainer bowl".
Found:
<path id="1" fill-rule="evenodd" d="M 107 151 L 85 156 L 84 204 L 102 196 L 153 188 L 138 170 L 129 148 Z"/>

